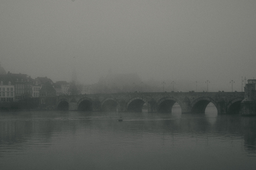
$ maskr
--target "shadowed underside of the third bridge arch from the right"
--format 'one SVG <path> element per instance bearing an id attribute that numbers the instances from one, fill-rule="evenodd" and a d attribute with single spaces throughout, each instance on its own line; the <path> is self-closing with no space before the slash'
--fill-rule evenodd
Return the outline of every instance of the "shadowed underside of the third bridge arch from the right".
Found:
<path id="1" fill-rule="evenodd" d="M 181 102 L 174 97 L 163 97 L 157 102 L 157 111 L 159 112 L 171 112 L 173 105 L 177 102 L 181 107 Z"/>

